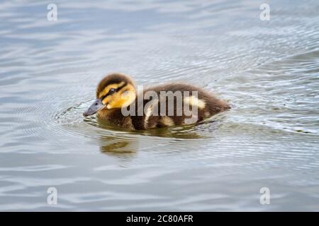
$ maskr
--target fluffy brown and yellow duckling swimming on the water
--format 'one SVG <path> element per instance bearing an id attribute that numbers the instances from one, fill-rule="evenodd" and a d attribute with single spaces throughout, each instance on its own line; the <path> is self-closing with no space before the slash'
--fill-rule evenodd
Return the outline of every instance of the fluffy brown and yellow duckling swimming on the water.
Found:
<path id="1" fill-rule="evenodd" d="M 139 87 L 138 87 L 139 90 Z M 194 85 L 169 83 L 138 92 L 129 76 L 111 73 L 96 87 L 96 100 L 83 113 L 123 129 L 141 130 L 196 124 L 230 106 Z"/>

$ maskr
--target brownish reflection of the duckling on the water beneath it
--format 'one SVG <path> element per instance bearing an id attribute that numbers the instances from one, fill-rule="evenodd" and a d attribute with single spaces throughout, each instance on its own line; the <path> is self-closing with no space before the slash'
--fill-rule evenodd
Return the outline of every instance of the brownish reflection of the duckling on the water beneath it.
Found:
<path id="1" fill-rule="evenodd" d="M 161 138 L 173 138 L 174 141 L 196 140 L 195 143 L 203 143 L 206 138 L 211 138 L 216 131 L 218 121 L 202 121 L 197 125 L 173 126 L 158 129 L 128 131 L 122 128 L 103 124 L 97 121 L 104 132 L 113 131 L 113 134 L 100 134 L 99 146 L 103 154 L 118 158 L 121 161 L 133 160 L 140 149 L 150 150 L 150 146 L 157 145 Z M 118 133 L 120 132 L 120 133 Z"/>

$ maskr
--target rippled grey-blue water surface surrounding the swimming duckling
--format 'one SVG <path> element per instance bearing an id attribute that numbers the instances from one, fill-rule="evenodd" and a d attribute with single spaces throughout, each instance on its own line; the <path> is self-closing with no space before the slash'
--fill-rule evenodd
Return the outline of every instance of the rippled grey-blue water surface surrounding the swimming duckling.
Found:
<path id="1" fill-rule="evenodd" d="M 0 2 L 0 210 L 319 210 L 317 0 L 266 1 L 268 21 L 253 0 L 50 3 Z M 233 109 L 101 128 L 82 112 L 114 71 Z"/>

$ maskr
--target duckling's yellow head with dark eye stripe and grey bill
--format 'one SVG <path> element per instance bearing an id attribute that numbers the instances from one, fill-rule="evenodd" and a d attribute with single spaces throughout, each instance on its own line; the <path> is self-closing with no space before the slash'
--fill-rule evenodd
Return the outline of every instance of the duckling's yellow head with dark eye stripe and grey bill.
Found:
<path id="1" fill-rule="evenodd" d="M 83 113 L 84 117 L 95 114 L 101 109 L 127 107 L 136 97 L 133 81 L 120 73 L 105 76 L 96 87 L 96 100 Z"/>

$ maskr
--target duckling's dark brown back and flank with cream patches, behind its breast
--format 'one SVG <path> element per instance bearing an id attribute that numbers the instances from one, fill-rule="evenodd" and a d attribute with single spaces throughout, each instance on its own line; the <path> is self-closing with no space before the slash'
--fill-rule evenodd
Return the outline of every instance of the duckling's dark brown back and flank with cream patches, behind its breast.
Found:
<path id="1" fill-rule="evenodd" d="M 143 98 L 144 97 L 144 98 Z M 140 101 L 140 104 L 138 103 Z M 206 90 L 184 83 L 171 83 L 147 88 L 135 100 L 135 129 L 195 124 L 230 106 Z M 143 112 L 143 114 L 138 114 Z"/>

